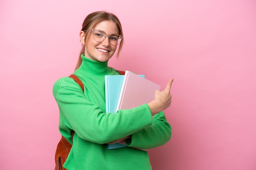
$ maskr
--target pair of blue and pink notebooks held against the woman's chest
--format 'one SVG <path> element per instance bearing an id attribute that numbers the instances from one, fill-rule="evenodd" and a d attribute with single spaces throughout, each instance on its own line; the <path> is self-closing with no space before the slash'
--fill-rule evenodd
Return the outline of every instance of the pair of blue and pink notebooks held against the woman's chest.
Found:
<path id="1" fill-rule="evenodd" d="M 155 98 L 155 90 L 160 85 L 126 71 L 125 75 L 105 76 L 106 113 L 115 113 L 120 109 L 132 109 Z M 108 144 L 108 149 L 126 147 L 125 143 Z M 140 148 L 138 148 L 140 149 Z M 144 150 L 144 149 L 141 149 Z"/>

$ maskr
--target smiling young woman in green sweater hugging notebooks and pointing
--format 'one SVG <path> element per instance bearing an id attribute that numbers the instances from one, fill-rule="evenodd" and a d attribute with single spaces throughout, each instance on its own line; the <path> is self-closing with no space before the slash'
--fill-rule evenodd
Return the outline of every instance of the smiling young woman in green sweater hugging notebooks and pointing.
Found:
<path id="1" fill-rule="evenodd" d="M 80 32 L 81 54 L 74 74 L 81 87 L 69 77 L 54 83 L 53 94 L 60 111 L 59 130 L 72 143 L 65 161 L 68 170 L 151 170 L 144 149 L 161 146 L 171 139 L 171 126 L 162 110 L 171 105 L 171 81 L 155 99 L 132 109 L 106 113 L 105 75 L 119 75 L 108 60 L 124 37 L 119 19 L 112 13 L 89 14 Z M 154 116 L 154 118 L 152 118 Z M 74 137 L 72 140 L 72 131 Z M 127 146 L 107 149 L 107 144 L 125 140 Z"/>

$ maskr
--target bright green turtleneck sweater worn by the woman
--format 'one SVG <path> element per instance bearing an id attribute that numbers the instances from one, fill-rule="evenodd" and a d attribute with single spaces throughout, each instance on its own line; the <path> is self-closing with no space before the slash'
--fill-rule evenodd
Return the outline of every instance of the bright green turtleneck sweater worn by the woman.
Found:
<path id="1" fill-rule="evenodd" d="M 68 170 L 151 170 L 144 149 L 161 146 L 171 138 L 171 126 L 161 111 L 151 116 L 147 104 L 133 109 L 106 113 L 105 75 L 119 75 L 108 62 L 90 60 L 84 55 L 74 72 L 85 87 L 69 77 L 54 83 L 53 94 L 60 111 L 59 130 L 72 144 L 64 164 Z M 72 141 L 72 130 L 75 131 Z M 132 147 L 107 149 L 108 142 L 132 135 Z"/>

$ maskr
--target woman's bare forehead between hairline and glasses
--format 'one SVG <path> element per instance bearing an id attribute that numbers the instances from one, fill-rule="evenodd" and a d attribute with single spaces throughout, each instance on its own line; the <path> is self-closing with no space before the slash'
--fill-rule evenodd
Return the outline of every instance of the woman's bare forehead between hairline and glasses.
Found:
<path id="1" fill-rule="evenodd" d="M 107 34 L 119 34 L 117 24 L 113 21 L 101 21 L 93 29 L 102 30 Z"/>

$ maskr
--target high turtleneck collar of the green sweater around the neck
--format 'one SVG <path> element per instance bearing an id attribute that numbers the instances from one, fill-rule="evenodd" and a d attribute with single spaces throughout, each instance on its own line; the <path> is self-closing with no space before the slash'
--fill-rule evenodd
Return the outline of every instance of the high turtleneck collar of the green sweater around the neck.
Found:
<path id="1" fill-rule="evenodd" d="M 103 63 L 94 61 L 85 57 L 84 54 L 81 55 L 81 58 L 81 66 L 75 71 L 75 73 L 79 72 L 88 76 L 104 76 L 108 74 L 108 72 L 111 72 L 111 69 L 108 67 L 108 61 Z"/>

